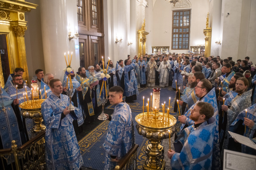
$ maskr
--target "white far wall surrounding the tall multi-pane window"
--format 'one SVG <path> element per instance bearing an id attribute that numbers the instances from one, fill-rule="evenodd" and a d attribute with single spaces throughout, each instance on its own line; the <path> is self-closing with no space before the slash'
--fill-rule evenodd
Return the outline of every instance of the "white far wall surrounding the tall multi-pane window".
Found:
<path id="1" fill-rule="evenodd" d="M 190 20 L 190 40 L 189 45 L 204 44 L 203 30 L 206 28 L 207 12 L 210 11 L 209 0 L 190 0 L 191 20 Z M 190 9 L 175 8 L 173 10 Z M 172 4 L 165 0 L 156 0 L 153 8 L 153 42 L 152 46 L 170 46 L 171 53 L 187 53 L 188 50 L 171 50 L 172 45 Z"/>

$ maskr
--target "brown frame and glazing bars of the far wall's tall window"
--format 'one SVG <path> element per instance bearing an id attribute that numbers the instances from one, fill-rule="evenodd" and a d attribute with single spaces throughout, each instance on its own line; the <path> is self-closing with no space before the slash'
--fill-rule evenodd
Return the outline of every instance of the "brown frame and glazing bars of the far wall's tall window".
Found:
<path id="1" fill-rule="evenodd" d="M 174 26 L 174 24 L 177 24 L 176 23 L 176 20 L 177 19 L 175 19 L 175 23 L 174 23 L 174 12 L 182 12 L 182 26 L 178 26 L 178 27 L 176 27 L 176 25 Z M 184 12 L 189 12 L 189 18 L 184 18 Z M 181 16 L 181 15 L 175 15 L 175 16 Z M 189 25 L 188 26 L 183 26 L 183 24 L 184 24 L 184 19 L 188 19 L 188 23 L 189 23 Z M 180 24 L 180 18 L 178 19 L 179 20 L 179 24 Z M 171 45 L 171 49 L 172 50 L 189 50 L 189 39 L 190 39 L 190 25 L 191 25 L 191 9 L 183 9 L 183 10 L 173 10 L 173 20 L 172 20 L 172 37 L 171 37 L 171 39 L 172 39 L 172 45 Z M 185 22 L 185 23 L 187 23 L 187 21 Z M 173 30 L 174 29 L 178 29 L 178 32 L 174 32 Z M 179 29 L 182 29 L 182 32 L 179 32 Z M 183 32 L 184 31 L 184 29 L 188 29 L 188 32 L 186 31 L 186 32 Z M 182 37 L 179 37 L 179 34 L 182 34 Z M 185 35 L 185 34 L 188 34 L 188 37 L 184 37 L 183 35 Z M 173 35 L 178 35 L 178 37 L 175 37 L 175 38 L 178 38 L 178 48 L 173 48 L 173 42 L 176 42 L 176 41 L 173 41 Z M 181 48 L 179 48 L 179 39 L 181 38 Z M 187 42 L 187 41 L 183 41 L 183 38 L 188 38 L 188 48 L 183 48 L 183 42 Z"/>

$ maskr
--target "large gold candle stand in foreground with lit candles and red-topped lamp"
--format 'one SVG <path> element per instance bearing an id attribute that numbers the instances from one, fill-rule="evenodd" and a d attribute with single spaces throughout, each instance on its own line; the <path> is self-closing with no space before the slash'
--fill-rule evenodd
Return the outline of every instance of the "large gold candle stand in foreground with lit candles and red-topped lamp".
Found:
<path id="1" fill-rule="evenodd" d="M 165 169 L 163 155 L 164 150 L 160 143 L 161 140 L 167 139 L 168 137 L 170 138 L 170 136 L 172 136 L 175 132 L 174 125 L 176 124 L 176 118 L 169 114 L 169 108 L 167 113 L 165 113 L 165 108 L 163 109 L 163 112 L 159 112 L 159 101 L 160 89 L 158 91 L 154 89 L 152 111 L 150 111 L 151 108 L 148 104 L 147 112 L 140 113 L 135 117 L 135 120 L 138 123 L 136 125 L 138 133 L 143 137 L 146 137 L 151 143 L 148 144 L 146 148 L 147 157 L 143 165 L 144 170 Z M 165 107 L 165 104 L 163 107 Z"/>

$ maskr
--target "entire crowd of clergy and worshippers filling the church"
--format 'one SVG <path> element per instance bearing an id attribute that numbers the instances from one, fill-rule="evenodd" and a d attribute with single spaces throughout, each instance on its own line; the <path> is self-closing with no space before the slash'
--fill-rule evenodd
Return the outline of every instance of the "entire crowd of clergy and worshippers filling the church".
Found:
<path id="1" fill-rule="evenodd" d="M 37 82 L 41 89 L 40 98 L 46 99 L 42 104 L 42 115 L 46 125 L 48 169 L 79 169 L 82 166 L 76 135 L 83 131 L 84 123 L 94 121 L 101 99 L 108 93 L 116 114 L 113 117 L 107 115 L 111 123 L 103 146 L 106 150 L 105 168 L 113 168 L 112 163 L 120 160 L 133 146 L 134 128 L 129 103 L 137 99 L 138 89 L 146 86 L 171 86 L 177 92 L 178 102 L 173 106 L 177 118 L 175 151 L 168 151 L 173 169 L 191 166 L 219 169 L 224 149 L 256 154 L 255 150 L 239 145 L 228 134 L 228 131 L 233 131 L 246 137 L 256 137 L 256 75 L 255 65 L 249 60 L 250 57 L 245 57 L 234 62 L 231 57 L 222 60 L 219 56 L 193 54 L 146 54 L 130 59 L 128 55 L 116 66 L 110 60 L 108 67 L 100 61 L 88 68 L 78 68 L 76 74 L 72 70 L 68 73 L 72 84 L 67 74 L 61 82 L 53 74 L 44 75 L 42 69 L 37 69 L 33 82 Z M 33 121 L 22 119 L 18 107 L 25 101 L 24 94 L 31 93 L 27 81 L 23 80 L 23 72 L 22 68 L 15 68 L 5 87 L 1 88 L 0 121 L 5 128 L 0 128 L 0 149 L 9 148 L 11 140 L 16 140 L 21 146 L 33 137 Z M 101 90 L 104 72 L 109 78 L 106 88 Z M 74 111 L 68 110 L 67 92 L 72 87 Z M 126 97 L 125 103 L 123 96 Z M 27 100 L 31 97 L 28 95 Z M 202 143 L 204 150 L 198 148 Z M 122 150 L 123 145 L 127 146 L 125 150 Z M 55 149 L 51 149 L 53 147 Z M 191 155 L 198 160 L 191 161 Z"/>

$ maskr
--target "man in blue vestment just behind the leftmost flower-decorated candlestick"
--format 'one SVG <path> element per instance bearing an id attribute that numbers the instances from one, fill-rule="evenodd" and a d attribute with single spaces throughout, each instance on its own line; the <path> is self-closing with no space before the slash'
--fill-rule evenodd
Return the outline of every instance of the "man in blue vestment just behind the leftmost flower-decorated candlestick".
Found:
<path id="1" fill-rule="evenodd" d="M 82 126 L 83 125 L 83 120 L 85 118 L 85 115 L 83 113 L 83 93 L 82 91 L 82 87 L 80 86 L 80 83 L 77 81 L 77 79 L 75 79 L 75 74 L 74 74 L 74 70 L 70 73 L 71 76 L 71 81 L 72 81 L 72 85 L 73 85 L 73 94 L 72 94 L 72 98 L 71 101 L 74 103 L 74 107 L 77 107 L 77 120 L 73 121 L 73 126 L 74 126 L 74 130 L 75 133 L 78 134 L 82 131 Z M 62 85 L 64 87 L 67 86 L 67 75 L 64 75 L 64 79 L 63 79 L 63 83 Z M 71 88 L 70 85 L 70 80 L 68 81 L 68 89 Z M 66 90 L 68 90 L 66 89 Z M 65 94 L 65 93 L 64 93 Z M 80 128 L 78 128 L 80 126 Z"/>

